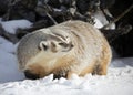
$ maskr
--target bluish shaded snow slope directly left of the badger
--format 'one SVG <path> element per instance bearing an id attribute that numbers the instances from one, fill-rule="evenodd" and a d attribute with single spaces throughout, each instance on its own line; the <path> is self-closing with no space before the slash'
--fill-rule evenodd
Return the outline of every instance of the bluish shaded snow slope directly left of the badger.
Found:
<path id="1" fill-rule="evenodd" d="M 18 70 L 16 45 L 0 36 L 0 83 L 23 80 Z"/>

